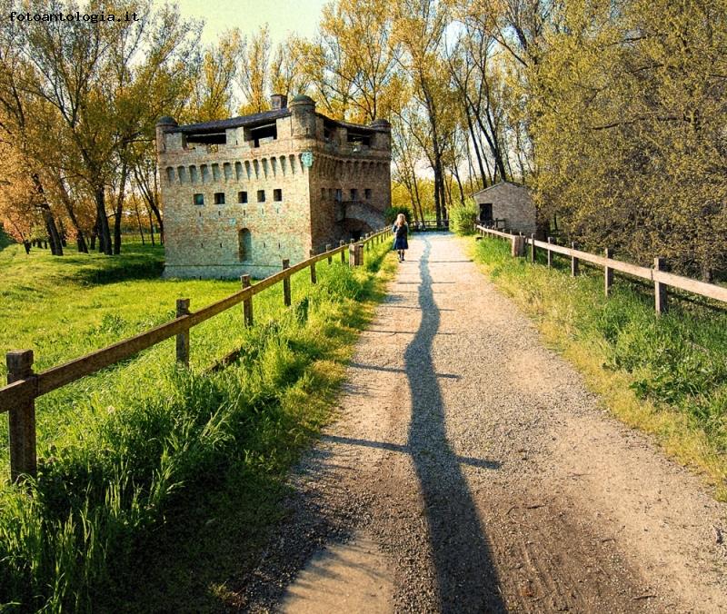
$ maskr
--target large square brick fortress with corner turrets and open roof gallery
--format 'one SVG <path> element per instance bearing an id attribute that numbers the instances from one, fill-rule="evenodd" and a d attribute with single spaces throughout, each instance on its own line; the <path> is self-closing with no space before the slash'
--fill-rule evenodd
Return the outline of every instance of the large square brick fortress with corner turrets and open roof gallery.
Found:
<path id="1" fill-rule="evenodd" d="M 383 225 L 391 125 L 339 122 L 276 94 L 272 111 L 156 124 L 166 277 L 262 278 Z"/>

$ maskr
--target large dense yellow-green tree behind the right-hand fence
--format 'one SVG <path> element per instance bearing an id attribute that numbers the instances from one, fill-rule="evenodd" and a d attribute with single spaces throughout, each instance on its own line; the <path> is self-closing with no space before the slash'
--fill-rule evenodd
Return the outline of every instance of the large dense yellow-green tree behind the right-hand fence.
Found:
<path id="1" fill-rule="evenodd" d="M 543 205 L 593 247 L 724 267 L 727 2 L 570 0 L 560 17 L 530 102 Z"/>

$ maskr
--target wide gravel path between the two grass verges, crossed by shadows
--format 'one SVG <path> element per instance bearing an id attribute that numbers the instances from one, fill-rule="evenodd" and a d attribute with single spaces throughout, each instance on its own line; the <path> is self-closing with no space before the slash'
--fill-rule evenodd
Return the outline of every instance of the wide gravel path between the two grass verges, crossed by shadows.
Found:
<path id="1" fill-rule="evenodd" d="M 727 610 L 727 506 L 612 420 L 461 243 L 411 245 L 240 609 Z"/>

